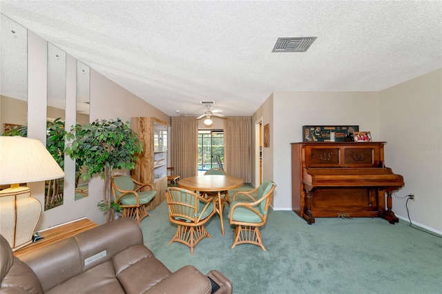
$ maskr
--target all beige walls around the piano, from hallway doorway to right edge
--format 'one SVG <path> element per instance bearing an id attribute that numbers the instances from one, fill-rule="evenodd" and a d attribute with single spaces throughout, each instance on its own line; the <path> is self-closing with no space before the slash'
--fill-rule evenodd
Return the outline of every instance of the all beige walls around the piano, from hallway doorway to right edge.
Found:
<path id="1" fill-rule="evenodd" d="M 381 92 L 273 92 L 252 121 L 262 117 L 271 126 L 270 148 L 262 150 L 263 169 L 273 170 L 269 179 L 278 185 L 274 209 L 291 210 L 290 143 L 302 141 L 302 126 L 356 124 L 374 141 L 387 141 L 385 164 L 404 177 L 393 199 L 396 215 L 407 220 L 400 197 L 414 193 L 412 222 L 442 233 L 441 85 L 442 69 Z"/>

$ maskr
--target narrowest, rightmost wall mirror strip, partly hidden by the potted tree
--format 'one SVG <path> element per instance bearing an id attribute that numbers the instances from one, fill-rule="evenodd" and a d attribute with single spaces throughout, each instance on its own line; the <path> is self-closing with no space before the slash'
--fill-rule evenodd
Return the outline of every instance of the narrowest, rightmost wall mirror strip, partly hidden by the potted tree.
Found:
<path id="1" fill-rule="evenodd" d="M 77 124 L 89 124 L 90 68 L 77 61 Z M 89 182 L 81 179 L 84 166 L 75 162 L 75 200 L 88 196 Z"/>

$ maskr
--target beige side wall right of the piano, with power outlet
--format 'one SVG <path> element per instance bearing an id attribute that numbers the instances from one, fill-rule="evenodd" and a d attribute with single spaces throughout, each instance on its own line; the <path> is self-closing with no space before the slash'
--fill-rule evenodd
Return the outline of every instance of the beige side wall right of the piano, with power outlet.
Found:
<path id="1" fill-rule="evenodd" d="M 414 224 L 442 233 L 442 69 L 380 92 L 381 140 L 385 164 L 403 175 L 405 186 L 393 198 L 393 211 Z"/>

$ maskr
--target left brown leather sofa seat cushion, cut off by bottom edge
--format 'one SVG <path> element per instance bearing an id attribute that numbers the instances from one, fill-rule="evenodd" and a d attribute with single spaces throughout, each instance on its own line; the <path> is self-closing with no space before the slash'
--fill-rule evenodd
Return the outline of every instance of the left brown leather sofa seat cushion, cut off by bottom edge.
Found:
<path id="1" fill-rule="evenodd" d="M 115 277 L 113 263 L 104 262 L 94 268 L 76 275 L 63 284 L 59 284 L 50 289 L 48 294 L 68 294 L 68 293 L 126 293 Z"/>

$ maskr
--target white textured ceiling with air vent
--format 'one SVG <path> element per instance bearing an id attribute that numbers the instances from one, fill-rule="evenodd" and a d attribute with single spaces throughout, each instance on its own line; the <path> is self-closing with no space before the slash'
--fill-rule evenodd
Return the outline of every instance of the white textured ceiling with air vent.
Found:
<path id="1" fill-rule="evenodd" d="M 273 91 L 378 91 L 442 68 L 441 1 L 1 1 L 168 115 L 252 115 Z M 271 52 L 278 37 L 317 37 Z M 111 97 L 109 97 L 111 99 Z"/>

